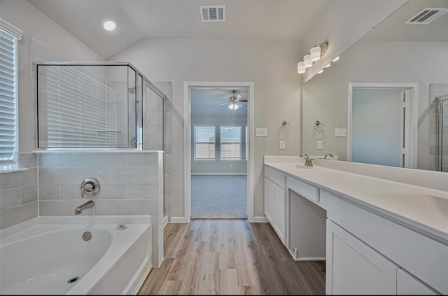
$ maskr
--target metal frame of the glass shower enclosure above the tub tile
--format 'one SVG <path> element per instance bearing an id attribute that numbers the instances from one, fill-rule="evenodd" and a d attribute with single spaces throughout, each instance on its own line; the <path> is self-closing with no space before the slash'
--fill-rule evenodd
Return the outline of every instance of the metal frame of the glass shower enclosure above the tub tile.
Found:
<path id="1" fill-rule="evenodd" d="M 163 113 L 163 120 L 162 120 L 162 150 L 165 150 L 165 104 L 168 100 L 167 96 L 158 89 L 157 86 L 151 80 L 149 80 L 146 76 L 144 76 L 139 69 L 137 69 L 134 65 L 132 65 L 130 62 L 42 62 L 42 63 L 33 63 L 36 66 L 36 134 L 37 134 L 37 143 L 36 147 L 38 149 L 42 150 L 48 150 L 48 149 L 54 149 L 54 148 L 40 148 L 39 145 L 39 132 L 38 132 L 38 126 L 39 126 L 39 116 L 38 116 L 38 66 L 128 66 L 130 69 L 135 71 L 135 82 L 136 82 L 136 88 L 137 88 L 137 78 L 141 76 L 142 79 L 142 85 L 141 85 L 141 123 L 140 120 L 137 120 L 137 104 L 135 104 L 135 114 L 136 114 L 136 125 L 135 125 L 135 133 L 136 133 L 136 150 L 146 150 L 146 136 L 144 136 L 146 132 L 145 122 L 146 122 L 146 86 L 150 87 L 151 90 L 153 90 L 160 98 L 162 98 L 163 104 L 162 104 L 162 113 Z M 127 77 L 127 81 L 129 81 L 129 73 Z M 139 132 L 139 129 L 141 128 L 141 133 Z M 143 139 L 143 141 L 141 141 Z M 142 147 L 139 147 L 139 143 L 143 143 Z M 70 149 L 70 148 L 57 148 L 57 149 Z M 79 148 L 76 148 L 79 149 Z M 92 147 L 83 147 L 81 149 L 95 149 Z M 101 148 L 104 149 L 104 148 Z M 109 149 L 132 149 L 132 148 L 109 148 Z"/>

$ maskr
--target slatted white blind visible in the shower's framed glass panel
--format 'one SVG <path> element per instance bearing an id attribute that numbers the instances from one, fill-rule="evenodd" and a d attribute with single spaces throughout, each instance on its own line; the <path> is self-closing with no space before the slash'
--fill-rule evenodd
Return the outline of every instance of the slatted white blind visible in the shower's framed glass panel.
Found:
<path id="1" fill-rule="evenodd" d="M 38 66 L 39 143 L 116 147 L 116 92 L 73 66 Z M 46 127 L 46 128 L 45 128 Z"/>

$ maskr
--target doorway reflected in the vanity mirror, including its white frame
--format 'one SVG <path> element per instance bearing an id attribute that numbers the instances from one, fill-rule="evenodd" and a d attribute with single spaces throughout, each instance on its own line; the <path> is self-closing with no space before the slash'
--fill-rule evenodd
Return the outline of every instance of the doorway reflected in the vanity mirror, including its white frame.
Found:
<path id="1" fill-rule="evenodd" d="M 348 160 L 416 167 L 416 85 L 349 85 Z"/>

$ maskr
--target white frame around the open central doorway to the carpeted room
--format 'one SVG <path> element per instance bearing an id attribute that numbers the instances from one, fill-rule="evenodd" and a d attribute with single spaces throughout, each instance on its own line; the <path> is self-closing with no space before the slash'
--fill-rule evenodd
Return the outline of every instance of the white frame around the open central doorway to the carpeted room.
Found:
<path id="1" fill-rule="evenodd" d="M 186 81 L 183 83 L 183 143 L 186 147 L 183 153 L 183 190 L 184 190 L 184 213 L 185 222 L 190 222 L 191 218 L 191 87 L 248 87 L 247 98 L 247 130 L 248 138 L 248 160 L 247 160 L 247 218 L 249 222 L 253 221 L 253 203 L 254 203 L 254 187 L 255 187 L 255 149 L 254 134 L 254 84 L 253 82 L 213 82 L 213 81 Z"/>

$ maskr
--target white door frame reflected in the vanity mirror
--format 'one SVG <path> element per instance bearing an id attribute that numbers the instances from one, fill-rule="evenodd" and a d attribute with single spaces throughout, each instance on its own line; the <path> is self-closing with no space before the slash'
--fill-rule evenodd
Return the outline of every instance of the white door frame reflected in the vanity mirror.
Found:
<path id="1" fill-rule="evenodd" d="M 418 83 L 349 83 L 349 101 L 348 101 L 348 122 L 347 122 L 347 161 L 351 162 L 351 112 L 353 101 L 353 88 L 389 88 L 402 89 L 409 91 L 409 97 L 406 98 L 407 119 L 405 121 L 405 162 L 407 168 L 417 168 L 417 149 L 418 149 L 418 122 L 419 122 L 419 84 Z"/>

